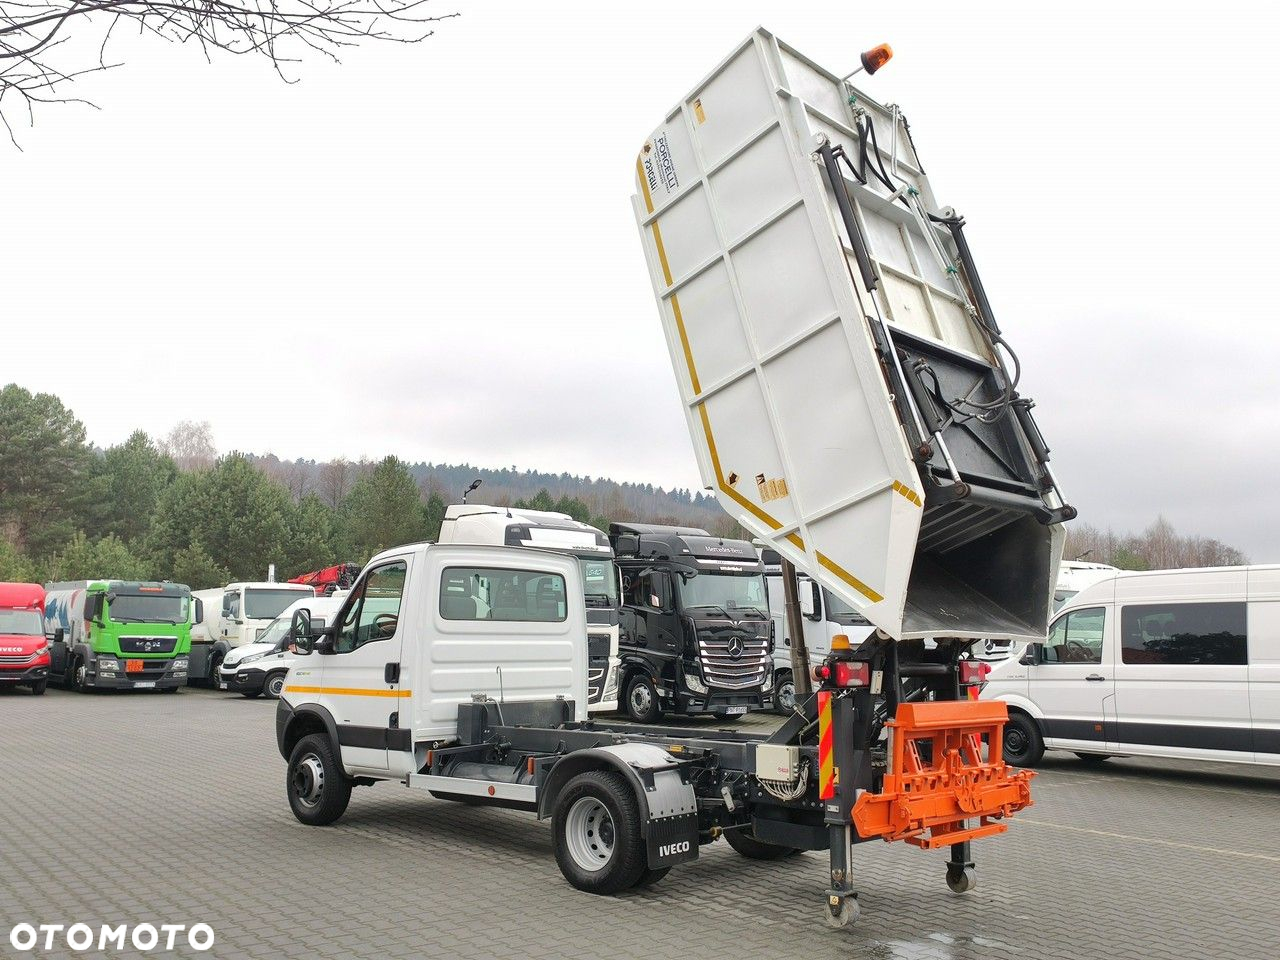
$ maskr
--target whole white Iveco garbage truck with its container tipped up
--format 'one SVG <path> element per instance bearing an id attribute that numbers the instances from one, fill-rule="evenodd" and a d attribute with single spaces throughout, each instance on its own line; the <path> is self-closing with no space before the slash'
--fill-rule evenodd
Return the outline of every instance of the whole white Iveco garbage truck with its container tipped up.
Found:
<path id="1" fill-rule="evenodd" d="M 840 68 L 751 33 L 644 142 L 634 209 L 704 481 L 876 634 L 833 637 L 818 691 L 771 735 L 608 726 L 585 719 L 572 558 L 388 550 L 280 699 L 300 820 L 334 822 L 378 780 L 529 810 L 596 893 L 719 837 L 762 860 L 824 850 L 836 927 L 858 914 L 859 842 L 945 851 L 947 884 L 974 886 L 970 842 L 1030 803 L 1030 774 L 1001 758 L 1005 704 L 969 696 L 987 671 L 969 648 L 1043 640 L 1074 511 L 964 221 L 901 111 Z M 539 602 L 494 622 L 508 590 Z"/>

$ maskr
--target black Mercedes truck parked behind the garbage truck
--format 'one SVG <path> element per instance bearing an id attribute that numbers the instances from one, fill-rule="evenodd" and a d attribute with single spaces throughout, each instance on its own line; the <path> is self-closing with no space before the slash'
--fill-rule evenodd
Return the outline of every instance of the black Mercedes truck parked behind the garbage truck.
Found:
<path id="1" fill-rule="evenodd" d="M 745 540 L 705 530 L 611 524 L 622 571 L 623 709 L 719 719 L 763 709 L 773 685 L 764 567 Z"/>

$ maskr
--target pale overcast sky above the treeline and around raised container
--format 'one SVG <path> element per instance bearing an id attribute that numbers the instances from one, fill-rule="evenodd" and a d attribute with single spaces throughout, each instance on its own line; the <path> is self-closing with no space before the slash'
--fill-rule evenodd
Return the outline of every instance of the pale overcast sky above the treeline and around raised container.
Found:
<path id="1" fill-rule="evenodd" d="M 122 41 L 0 148 L 0 381 L 100 444 L 471 461 L 696 486 L 628 196 L 755 26 L 899 102 L 1082 517 L 1280 561 L 1275 14 L 1123 5 L 433 0 L 301 82 Z M 114 42 L 114 41 L 113 41 Z M 844 72 L 842 70 L 842 72 Z"/>

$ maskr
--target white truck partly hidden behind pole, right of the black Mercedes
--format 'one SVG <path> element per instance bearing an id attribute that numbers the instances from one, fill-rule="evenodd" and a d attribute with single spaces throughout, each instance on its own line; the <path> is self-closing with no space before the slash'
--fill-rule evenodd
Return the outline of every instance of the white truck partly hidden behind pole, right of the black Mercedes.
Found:
<path id="1" fill-rule="evenodd" d="M 764 582 L 769 588 L 769 617 L 773 620 L 773 709 L 790 714 L 795 709 L 796 686 L 791 667 L 791 631 L 782 590 L 782 561 L 777 550 L 762 548 Z M 861 613 L 824 589 L 808 573 L 796 575 L 800 616 L 804 618 L 804 643 L 809 652 L 809 666 L 817 667 L 831 655 L 832 637 L 845 635 L 858 646 L 876 632 L 876 627 Z"/>

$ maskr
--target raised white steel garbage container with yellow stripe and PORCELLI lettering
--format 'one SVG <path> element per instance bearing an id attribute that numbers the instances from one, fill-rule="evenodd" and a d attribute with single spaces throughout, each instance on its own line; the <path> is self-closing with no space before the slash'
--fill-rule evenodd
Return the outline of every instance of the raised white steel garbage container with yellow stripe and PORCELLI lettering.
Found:
<path id="1" fill-rule="evenodd" d="M 1043 637 L 1075 512 L 897 109 L 759 29 L 632 205 L 724 508 L 895 639 Z"/>

